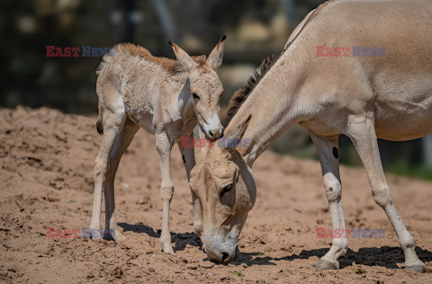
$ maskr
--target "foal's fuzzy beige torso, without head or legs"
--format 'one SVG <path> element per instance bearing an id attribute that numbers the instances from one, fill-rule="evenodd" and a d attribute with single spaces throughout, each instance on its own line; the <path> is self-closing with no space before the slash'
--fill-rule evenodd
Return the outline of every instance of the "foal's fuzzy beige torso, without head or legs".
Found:
<path id="1" fill-rule="evenodd" d="M 194 57 L 196 61 L 205 57 Z M 130 120 L 154 133 L 153 119 L 175 103 L 187 74 L 177 60 L 154 57 L 148 49 L 131 43 L 114 46 L 96 72 L 99 100 L 124 105 Z"/>

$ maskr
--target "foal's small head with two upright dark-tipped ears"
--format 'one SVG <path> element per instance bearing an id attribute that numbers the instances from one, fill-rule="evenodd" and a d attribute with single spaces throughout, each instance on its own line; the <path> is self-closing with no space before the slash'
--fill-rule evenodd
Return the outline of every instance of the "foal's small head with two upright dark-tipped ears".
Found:
<path id="1" fill-rule="evenodd" d="M 202 132 L 208 138 L 219 138 L 223 132 L 219 119 L 219 100 L 223 87 L 216 70 L 222 64 L 223 45 L 226 38 L 224 35 L 219 40 L 209 58 L 202 57 L 198 62 L 196 58 L 192 58 L 175 43 L 169 41 L 180 66 L 188 73 L 193 107 Z"/>

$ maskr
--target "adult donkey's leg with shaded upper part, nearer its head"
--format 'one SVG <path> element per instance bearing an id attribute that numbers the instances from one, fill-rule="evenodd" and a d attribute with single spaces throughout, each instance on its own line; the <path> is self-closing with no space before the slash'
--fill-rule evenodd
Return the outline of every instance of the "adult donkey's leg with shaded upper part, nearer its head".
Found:
<path id="1" fill-rule="evenodd" d="M 318 271 L 336 270 L 339 268 L 339 256 L 347 253 L 348 248 L 348 239 L 344 237 L 345 220 L 341 200 L 342 185 L 339 176 L 338 137 L 322 138 L 313 133 L 310 134 L 320 158 L 322 178 L 324 180 L 327 200 L 329 201 L 333 232 L 339 230 L 341 234 L 339 237 L 335 236 L 333 238 L 329 252 L 321 257 L 320 262 L 315 265 L 315 269 Z"/>

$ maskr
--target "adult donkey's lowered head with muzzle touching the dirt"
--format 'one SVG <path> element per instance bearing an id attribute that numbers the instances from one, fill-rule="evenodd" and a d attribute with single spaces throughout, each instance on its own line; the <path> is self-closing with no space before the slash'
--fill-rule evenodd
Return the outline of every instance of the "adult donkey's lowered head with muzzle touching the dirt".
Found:
<path id="1" fill-rule="evenodd" d="M 226 264 L 236 258 L 238 235 L 255 204 L 254 175 L 236 150 L 246 141 L 242 136 L 249 119 L 228 127 L 223 138 L 202 148 L 191 172 L 189 185 L 202 205 L 205 246 L 213 262 Z"/>

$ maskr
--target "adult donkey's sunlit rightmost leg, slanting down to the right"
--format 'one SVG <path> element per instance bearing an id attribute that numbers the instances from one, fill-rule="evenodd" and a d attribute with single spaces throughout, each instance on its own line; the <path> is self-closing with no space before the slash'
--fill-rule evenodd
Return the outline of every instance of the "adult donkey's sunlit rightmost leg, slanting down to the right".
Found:
<path id="1" fill-rule="evenodd" d="M 399 244 L 405 253 L 405 266 L 410 271 L 424 272 L 425 264 L 415 252 L 414 239 L 403 225 L 401 217 L 393 206 L 389 186 L 385 180 L 380 152 L 376 141 L 374 119 L 366 116 L 351 117 L 348 121 L 348 137 L 351 138 L 358 155 L 365 165 L 365 171 L 372 188 L 376 204 L 384 209 L 398 235 Z"/>

